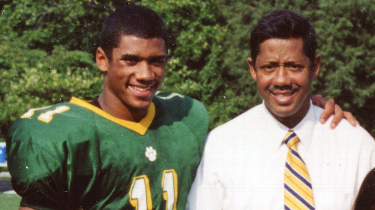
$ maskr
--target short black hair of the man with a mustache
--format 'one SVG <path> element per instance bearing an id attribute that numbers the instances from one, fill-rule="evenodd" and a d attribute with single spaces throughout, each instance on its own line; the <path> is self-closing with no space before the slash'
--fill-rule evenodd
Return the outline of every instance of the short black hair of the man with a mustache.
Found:
<path id="1" fill-rule="evenodd" d="M 253 65 L 259 46 L 269 38 L 302 38 L 303 51 L 311 64 L 315 60 L 317 38 L 314 27 L 302 15 L 287 9 L 273 10 L 262 18 L 251 31 L 250 49 Z"/>

